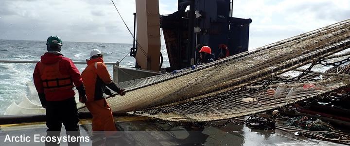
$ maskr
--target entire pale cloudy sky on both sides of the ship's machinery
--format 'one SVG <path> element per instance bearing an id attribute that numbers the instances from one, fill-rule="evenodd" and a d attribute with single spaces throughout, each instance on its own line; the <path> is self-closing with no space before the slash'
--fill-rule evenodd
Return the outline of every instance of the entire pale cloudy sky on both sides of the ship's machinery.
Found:
<path id="1" fill-rule="evenodd" d="M 114 0 L 133 29 L 135 0 Z M 350 0 L 234 0 L 233 17 L 251 18 L 249 49 L 350 18 Z M 177 0 L 159 0 L 172 14 Z M 0 0 L 0 39 L 132 43 L 111 0 Z"/>

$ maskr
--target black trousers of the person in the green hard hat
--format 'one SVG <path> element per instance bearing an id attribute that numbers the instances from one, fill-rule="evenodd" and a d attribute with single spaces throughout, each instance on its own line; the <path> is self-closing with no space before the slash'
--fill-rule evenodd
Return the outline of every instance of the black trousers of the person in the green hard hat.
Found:
<path id="1" fill-rule="evenodd" d="M 67 136 L 80 136 L 79 116 L 75 99 L 69 98 L 63 101 L 47 101 L 46 103 L 46 136 L 59 136 L 62 123 L 65 126 Z M 45 143 L 46 146 L 59 146 L 57 143 Z M 68 143 L 69 146 L 79 146 L 79 142 Z"/>

